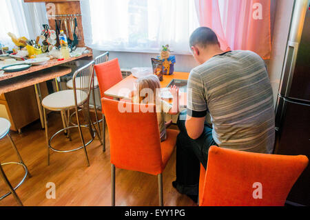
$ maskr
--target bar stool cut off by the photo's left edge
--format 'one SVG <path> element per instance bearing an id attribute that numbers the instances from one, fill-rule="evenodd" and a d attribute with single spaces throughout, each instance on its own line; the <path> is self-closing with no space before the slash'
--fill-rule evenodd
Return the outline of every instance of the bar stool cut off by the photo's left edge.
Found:
<path id="1" fill-rule="evenodd" d="M 21 183 L 23 183 L 25 181 L 25 178 L 27 176 L 31 177 L 31 175 L 30 175 L 30 172 L 28 172 L 27 166 L 25 166 L 25 163 L 23 163 L 23 159 L 21 159 L 21 154 L 19 154 L 19 151 L 17 150 L 15 143 L 9 134 L 10 127 L 11 127 L 10 121 L 8 121 L 7 119 L 0 118 L 0 139 L 3 139 L 3 137 L 8 137 L 8 139 L 10 139 L 10 142 L 12 144 L 12 148 L 14 149 L 15 153 L 17 154 L 17 157 L 19 158 L 19 162 L 0 163 L 1 177 L 2 177 L 3 181 L 6 183 L 6 185 L 8 186 L 8 188 L 10 189 L 10 192 L 1 196 L 0 200 L 4 199 L 5 197 L 8 197 L 9 194 L 13 194 L 13 197 L 15 198 L 15 200 L 17 201 L 19 206 L 23 206 L 23 203 L 21 202 L 21 199 L 19 199 L 19 196 L 17 195 L 15 190 L 17 190 L 17 188 L 19 188 L 19 186 L 21 186 Z M 25 170 L 25 175 L 23 176 L 23 179 L 21 179 L 21 181 L 14 188 L 12 187 L 10 181 L 8 180 L 8 177 L 6 177 L 6 174 L 4 173 L 3 168 L 2 168 L 2 166 L 6 166 L 8 164 L 20 165 Z"/>

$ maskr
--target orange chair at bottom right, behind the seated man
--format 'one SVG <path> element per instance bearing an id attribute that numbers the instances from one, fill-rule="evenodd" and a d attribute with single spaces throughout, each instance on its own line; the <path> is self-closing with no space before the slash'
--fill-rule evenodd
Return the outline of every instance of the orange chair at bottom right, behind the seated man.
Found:
<path id="1" fill-rule="evenodd" d="M 211 146 L 207 172 L 201 165 L 200 206 L 284 206 L 309 160 Z"/>

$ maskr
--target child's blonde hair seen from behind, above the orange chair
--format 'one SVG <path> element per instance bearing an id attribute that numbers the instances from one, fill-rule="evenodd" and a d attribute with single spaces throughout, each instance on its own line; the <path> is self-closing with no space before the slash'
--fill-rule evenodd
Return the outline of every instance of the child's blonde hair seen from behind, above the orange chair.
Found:
<path id="1" fill-rule="evenodd" d="M 154 74 L 139 78 L 136 81 L 136 87 L 138 88 L 137 94 L 139 97 L 139 103 L 156 103 L 156 100 L 160 98 L 159 89 L 161 88 L 161 83 L 158 77 Z M 141 92 L 142 90 L 144 91 Z M 153 97 L 149 97 L 149 93 L 151 91 L 153 93 Z M 146 94 L 146 96 L 143 97 L 143 94 Z"/>

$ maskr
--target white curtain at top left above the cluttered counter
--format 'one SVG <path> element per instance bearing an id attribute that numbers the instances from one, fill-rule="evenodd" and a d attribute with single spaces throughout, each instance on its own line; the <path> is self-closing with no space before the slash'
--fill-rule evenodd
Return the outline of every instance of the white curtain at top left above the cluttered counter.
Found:
<path id="1" fill-rule="evenodd" d="M 42 24 L 48 23 L 45 3 L 24 3 L 23 0 L 0 0 L 0 43 L 12 48 L 8 32 L 16 37 L 35 39 Z"/>

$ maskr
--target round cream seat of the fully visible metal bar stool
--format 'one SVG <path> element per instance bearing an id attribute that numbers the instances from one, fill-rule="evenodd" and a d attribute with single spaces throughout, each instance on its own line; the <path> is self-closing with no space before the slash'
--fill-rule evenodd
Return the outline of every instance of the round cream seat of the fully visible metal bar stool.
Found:
<path id="1" fill-rule="evenodd" d="M 83 99 L 82 99 L 83 97 Z M 77 106 L 87 99 L 87 93 L 82 90 L 76 90 Z M 49 110 L 67 110 L 74 108 L 74 90 L 63 90 L 49 94 L 42 100 L 42 106 Z"/>

